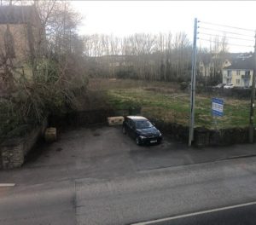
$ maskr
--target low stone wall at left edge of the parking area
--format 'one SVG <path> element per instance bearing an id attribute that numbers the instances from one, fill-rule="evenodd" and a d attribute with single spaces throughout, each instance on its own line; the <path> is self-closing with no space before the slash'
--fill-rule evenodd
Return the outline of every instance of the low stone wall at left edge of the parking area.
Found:
<path id="1" fill-rule="evenodd" d="M 12 169 L 20 167 L 24 163 L 27 153 L 30 152 L 32 147 L 38 141 L 40 136 L 43 136 L 48 122 L 47 118 L 43 123 L 32 129 L 26 136 L 19 138 L 9 138 L 0 146 L 0 168 Z"/>

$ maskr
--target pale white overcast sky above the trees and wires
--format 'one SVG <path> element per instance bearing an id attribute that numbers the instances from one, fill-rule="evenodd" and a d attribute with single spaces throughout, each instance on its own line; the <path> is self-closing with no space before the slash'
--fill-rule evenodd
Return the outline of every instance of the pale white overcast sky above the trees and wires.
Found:
<path id="1" fill-rule="evenodd" d="M 135 32 L 186 32 L 193 39 L 194 18 L 228 26 L 256 29 L 256 1 L 73 1 L 73 6 L 84 16 L 81 34 L 104 33 L 120 37 Z M 254 33 L 210 25 L 201 27 L 238 32 L 250 37 L 226 34 L 231 38 L 253 40 Z M 212 31 L 199 32 L 213 33 Z M 223 34 L 221 32 L 220 34 Z M 209 36 L 200 34 L 200 38 Z M 229 39 L 229 43 L 253 46 L 253 42 Z M 206 42 L 199 41 L 199 44 Z M 230 51 L 253 51 L 230 45 Z"/>

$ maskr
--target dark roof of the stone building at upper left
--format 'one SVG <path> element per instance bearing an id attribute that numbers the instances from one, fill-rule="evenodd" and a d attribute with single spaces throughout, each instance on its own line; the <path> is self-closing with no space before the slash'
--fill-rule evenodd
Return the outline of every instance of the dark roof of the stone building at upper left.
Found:
<path id="1" fill-rule="evenodd" d="M 33 5 L 0 7 L 0 24 L 24 24 L 38 19 L 37 10 Z"/>

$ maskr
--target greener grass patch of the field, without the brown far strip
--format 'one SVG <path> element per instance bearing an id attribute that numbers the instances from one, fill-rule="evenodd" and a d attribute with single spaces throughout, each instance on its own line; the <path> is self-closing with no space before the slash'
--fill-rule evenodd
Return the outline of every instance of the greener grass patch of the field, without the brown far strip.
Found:
<path id="1" fill-rule="evenodd" d="M 189 124 L 189 95 L 165 94 L 146 89 L 109 89 L 108 103 L 116 109 L 132 106 L 142 107 L 142 114 L 166 122 Z M 212 97 L 196 95 L 195 126 L 213 128 L 211 114 Z M 249 101 L 224 99 L 224 117 L 217 118 L 218 129 L 246 127 L 248 125 Z M 255 119 L 256 122 L 256 119 Z"/>

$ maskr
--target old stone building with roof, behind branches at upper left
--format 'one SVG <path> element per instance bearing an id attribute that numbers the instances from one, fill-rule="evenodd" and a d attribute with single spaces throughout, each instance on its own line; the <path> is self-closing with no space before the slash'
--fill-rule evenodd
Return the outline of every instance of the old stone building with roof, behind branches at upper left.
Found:
<path id="1" fill-rule="evenodd" d="M 7 68 L 15 76 L 32 76 L 34 61 L 42 55 L 44 29 L 34 6 L 0 7 L 0 84 Z"/>

